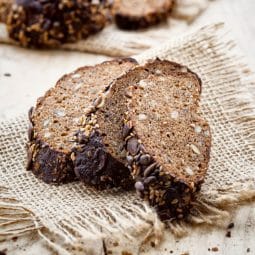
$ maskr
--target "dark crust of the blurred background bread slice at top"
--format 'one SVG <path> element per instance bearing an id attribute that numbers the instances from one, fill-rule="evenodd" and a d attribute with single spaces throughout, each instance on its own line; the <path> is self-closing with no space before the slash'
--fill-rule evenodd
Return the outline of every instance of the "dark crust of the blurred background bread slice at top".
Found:
<path id="1" fill-rule="evenodd" d="M 140 2 L 140 3 L 139 3 Z M 142 4 L 141 1 L 137 0 L 137 4 Z M 119 3 L 118 5 L 121 5 Z M 157 25 L 163 21 L 166 21 L 169 17 L 174 1 L 165 0 L 165 4 L 160 9 L 155 9 L 148 13 L 140 13 L 140 15 L 132 15 L 130 12 L 121 10 L 120 7 L 115 7 L 115 22 L 116 25 L 124 30 L 137 30 L 148 28 L 153 25 Z"/>

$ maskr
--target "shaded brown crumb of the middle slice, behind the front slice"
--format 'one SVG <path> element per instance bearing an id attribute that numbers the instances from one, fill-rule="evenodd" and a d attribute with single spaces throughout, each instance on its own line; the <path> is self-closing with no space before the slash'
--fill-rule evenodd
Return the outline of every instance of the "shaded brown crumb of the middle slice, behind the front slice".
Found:
<path id="1" fill-rule="evenodd" d="M 182 83 L 192 82 L 191 90 L 196 91 L 194 94 L 194 107 L 197 107 L 201 89 L 200 81 L 195 74 L 188 72 L 186 67 L 173 62 L 155 60 L 147 64 L 145 68 L 136 67 L 113 83 L 110 95 L 107 97 L 104 106 L 97 112 L 97 122 L 108 151 L 121 162 L 125 162 L 122 127 L 127 111 L 127 104 L 124 97 L 129 93 L 128 87 L 130 85 L 136 85 L 145 79 L 150 80 L 153 74 L 163 79 L 164 76 L 171 73 L 174 73 L 173 75 L 177 80 L 181 77 Z M 186 91 L 178 91 L 178 89 L 176 91 L 177 93 L 187 93 Z M 149 102 L 144 106 L 145 109 L 148 105 L 150 105 Z"/>

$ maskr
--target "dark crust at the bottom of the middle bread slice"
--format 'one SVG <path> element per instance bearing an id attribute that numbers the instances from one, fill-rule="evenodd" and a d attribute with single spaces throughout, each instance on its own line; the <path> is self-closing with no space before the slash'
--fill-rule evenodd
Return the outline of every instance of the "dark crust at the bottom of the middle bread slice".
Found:
<path id="1" fill-rule="evenodd" d="M 88 141 L 74 150 L 74 171 L 78 179 L 94 185 L 97 189 L 122 187 L 130 189 L 134 181 L 124 164 L 116 160 L 95 131 Z"/>

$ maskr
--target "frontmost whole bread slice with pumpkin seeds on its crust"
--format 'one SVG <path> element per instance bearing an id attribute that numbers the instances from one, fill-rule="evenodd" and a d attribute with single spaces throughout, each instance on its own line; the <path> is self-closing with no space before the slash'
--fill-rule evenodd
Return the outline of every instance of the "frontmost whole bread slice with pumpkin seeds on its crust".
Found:
<path id="1" fill-rule="evenodd" d="M 148 63 L 143 68 L 154 72 L 129 84 L 125 148 L 139 195 L 161 219 L 180 219 L 188 215 L 204 180 L 211 134 L 198 113 L 199 78 L 188 69 L 163 75 L 162 63 L 171 65 Z"/>

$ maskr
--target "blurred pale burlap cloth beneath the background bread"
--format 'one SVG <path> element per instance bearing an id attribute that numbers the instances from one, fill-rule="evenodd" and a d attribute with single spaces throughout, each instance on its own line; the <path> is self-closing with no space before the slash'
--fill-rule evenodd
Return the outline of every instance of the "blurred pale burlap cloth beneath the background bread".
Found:
<path id="1" fill-rule="evenodd" d="M 0 4 L 1 1 L 4 0 L 0 0 Z M 178 31 L 183 23 L 194 21 L 207 8 L 209 0 L 176 0 L 176 2 L 172 18 L 166 24 L 137 32 L 121 31 L 115 25 L 110 25 L 86 40 L 64 44 L 61 49 L 123 57 L 143 52 L 170 38 L 172 31 Z M 17 44 L 8 37 L 6 26 L 1 23 L 0 43 Z"/>

